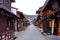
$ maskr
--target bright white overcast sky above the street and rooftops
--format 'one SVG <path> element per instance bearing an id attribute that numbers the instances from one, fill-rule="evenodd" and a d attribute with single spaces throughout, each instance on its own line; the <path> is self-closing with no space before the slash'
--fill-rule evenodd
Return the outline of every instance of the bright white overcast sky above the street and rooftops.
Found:
<path id="1" fill-rule="evenodd" d="M 46 0 L 16 0 L 12 7 L 18 8 L 18 11 L 27 15 L 36 15 L 36 10 L 43 6 Z"/>

